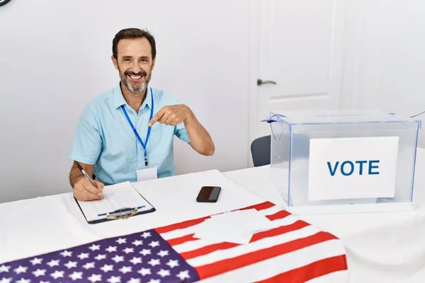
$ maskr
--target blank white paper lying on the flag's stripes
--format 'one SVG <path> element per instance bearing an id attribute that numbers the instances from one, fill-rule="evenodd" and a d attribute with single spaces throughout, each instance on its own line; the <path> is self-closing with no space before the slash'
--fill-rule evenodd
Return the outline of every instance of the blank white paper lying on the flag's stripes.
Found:
<path id="1" fill-rule="evenodd" d="M 254 233 L 278 227 L 256 209 L 216 214 L 198 224 L 194 238 L 247 244 Z"/>

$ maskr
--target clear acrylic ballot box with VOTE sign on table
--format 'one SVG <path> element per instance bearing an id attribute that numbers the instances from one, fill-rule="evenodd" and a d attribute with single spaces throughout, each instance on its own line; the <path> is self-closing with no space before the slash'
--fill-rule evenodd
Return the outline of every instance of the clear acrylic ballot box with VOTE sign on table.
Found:
<path id="1" fill-rule="evenodd" d="M 411 210 L 420 120 L 379 110 L 276 111 L 271 185 L 293 214 Z"/>

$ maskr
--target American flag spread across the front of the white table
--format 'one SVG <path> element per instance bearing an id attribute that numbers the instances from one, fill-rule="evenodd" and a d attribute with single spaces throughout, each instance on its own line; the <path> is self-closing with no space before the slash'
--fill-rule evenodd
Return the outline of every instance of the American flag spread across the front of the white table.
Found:
<path id="1" fill-rule="evenodd" d="M 0 263 L 0 283 L 348 282 L 344 246 L 331 233 L 271 202 L 243 209 L 278 228 L 246 245 L 193 238 L 207 216 Z"/>

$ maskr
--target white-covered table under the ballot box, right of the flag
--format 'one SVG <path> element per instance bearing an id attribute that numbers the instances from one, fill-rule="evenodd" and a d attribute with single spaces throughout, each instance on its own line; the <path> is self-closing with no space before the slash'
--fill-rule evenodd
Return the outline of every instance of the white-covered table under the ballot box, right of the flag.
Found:
<path id="1" fill-rule="evenodd" d="M 351 282 L 425 282 L 425 149 L 418 149 L 414 211 L 298 215 L 346 245 Z M 283 201 L 268 185 L 269 166 L 225 173 L 266 200 Z"/>

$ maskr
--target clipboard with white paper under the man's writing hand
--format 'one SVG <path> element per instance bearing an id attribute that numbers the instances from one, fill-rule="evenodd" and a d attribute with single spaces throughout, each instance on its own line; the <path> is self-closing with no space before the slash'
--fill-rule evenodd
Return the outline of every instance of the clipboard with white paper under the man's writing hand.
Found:
<path id="1" fill-rule="evenodd" d="M 81 213 L 89 224 L 128 219 L 156 211 L 130 182 L 108 185 L 103 188 L 103 200 L 82 202 L 74 197 Z"/>

